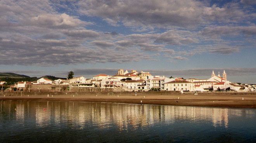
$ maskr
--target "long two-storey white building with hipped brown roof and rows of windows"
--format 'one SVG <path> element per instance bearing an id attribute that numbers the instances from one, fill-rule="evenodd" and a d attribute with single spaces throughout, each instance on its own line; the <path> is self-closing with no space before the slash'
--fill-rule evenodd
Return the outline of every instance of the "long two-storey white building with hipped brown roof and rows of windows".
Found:
<path id="1" fill-rule="evenodd" d="M 164 90 L 166 91 L 194 91 L 194 83 L 180 80 L 170 81 L 164 83 Z"/>

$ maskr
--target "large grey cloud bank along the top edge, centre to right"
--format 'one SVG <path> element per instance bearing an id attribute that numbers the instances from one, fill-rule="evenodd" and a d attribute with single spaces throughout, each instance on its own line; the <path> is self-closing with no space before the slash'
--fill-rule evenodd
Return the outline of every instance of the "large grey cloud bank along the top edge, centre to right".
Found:
<path id="1" fill-rule="evenodd" d="M 102 17 L 112 25 L 123 22 L 130 27 L 195 27 L 215 20 L 237 22 L 249 15 L 239 3 L 233 2 L 209 7 L 195 0 L 81 0 L 78 6 L 85 15 Z"/>

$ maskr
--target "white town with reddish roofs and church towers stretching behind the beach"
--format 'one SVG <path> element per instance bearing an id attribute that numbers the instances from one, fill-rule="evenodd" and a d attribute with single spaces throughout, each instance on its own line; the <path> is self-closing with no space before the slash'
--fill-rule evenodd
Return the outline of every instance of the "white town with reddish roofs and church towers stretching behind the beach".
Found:
<path id="1" fill-rule="evenodd" d="M 24 90 L 41 91 L 43 89 L 58 88 L 59 91 L 71 91 L 71 89 L 112 89 L 112 91 L 179 91 L 179 92 L 209 92 L 209 91 L 254 91 L 254 84 L 240 84 L 228 81 L 225 70 L 222 75 L 216 75 L 212 71 L 208 79 L 182 77 L 153 76 L 150 72 L 118 69 L 116 74 L 97 74 L 90 79 L 83 76 L 73 77 L 74 72 L 69 72 L 68 78 L 43 76 L 40 78 L 29 77 L 14 73 L 0 73 L 0 86 L 2 92 Z M 56 89 L 57 90 L 57 89 Z"/>

